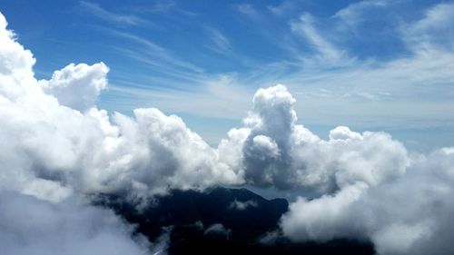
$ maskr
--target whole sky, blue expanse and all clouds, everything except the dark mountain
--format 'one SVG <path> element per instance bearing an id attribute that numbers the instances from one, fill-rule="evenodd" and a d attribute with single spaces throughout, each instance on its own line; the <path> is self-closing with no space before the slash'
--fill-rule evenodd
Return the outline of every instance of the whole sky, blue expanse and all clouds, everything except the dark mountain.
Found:
<path id="1" fill-rule="evenodd" d="M 7 253 L 159 254 L 93 199 L 217 186 L 291 194 L 267 240 L 454 252 L 453 2 L 0 11 Z"/>

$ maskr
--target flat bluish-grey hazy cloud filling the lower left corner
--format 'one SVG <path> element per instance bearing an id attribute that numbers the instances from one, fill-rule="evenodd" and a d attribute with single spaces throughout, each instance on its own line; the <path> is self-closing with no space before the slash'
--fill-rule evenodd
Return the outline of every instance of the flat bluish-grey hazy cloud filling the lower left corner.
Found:
<path id="1" fill-rule="evenodd" d="M 51 203 L 17 193 L 0 194 L 2 253 L 145 254 L 149 243 L 112 211 L 78 204 L 74 199 Z"/>

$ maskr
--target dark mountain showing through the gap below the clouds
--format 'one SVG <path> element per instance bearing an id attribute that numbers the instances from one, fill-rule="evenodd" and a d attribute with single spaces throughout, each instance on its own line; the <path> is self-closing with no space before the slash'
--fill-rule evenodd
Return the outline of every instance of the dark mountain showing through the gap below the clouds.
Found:
<path id="1" fill-rule="evenodd" d="M 95 200 L 113 209 L 137 232 L 155 240 L 170 230 L 170 255 L 178 254 L 374 254 L 368 241 L 332 240 L 294 243 L 277 238 L 279 220 L 288 210 L 284 199 L 265 200 L 246 189 L 214 188 L 208 191 L 171 191 L 156 197 L 141 210 L 122 196 L 104 195 Z"/>

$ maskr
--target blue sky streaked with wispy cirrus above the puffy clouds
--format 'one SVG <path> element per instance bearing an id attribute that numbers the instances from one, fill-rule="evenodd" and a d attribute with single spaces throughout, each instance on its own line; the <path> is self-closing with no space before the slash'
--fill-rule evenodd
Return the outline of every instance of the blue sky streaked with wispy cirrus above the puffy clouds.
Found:
<path id="1" fill-rule="evenodd" d="M 410 148 L 454 144 L 453 1 L 5 1 L 0 11 L 49 78 L 110 67 L 97 103 L 157 107 L 211 144 L 275 83 L 299 123 L 385 131 Z"/>

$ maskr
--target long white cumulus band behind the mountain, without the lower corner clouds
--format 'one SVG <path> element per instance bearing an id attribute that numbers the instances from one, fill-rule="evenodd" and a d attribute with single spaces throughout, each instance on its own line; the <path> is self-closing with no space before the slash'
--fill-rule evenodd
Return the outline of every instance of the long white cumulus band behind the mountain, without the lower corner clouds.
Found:
<path id="1" fill-rule="evenodd" d="M 38 82 L 35 59 L 3 21 L 0 162 L 6 190 L 38 197 L 52 190 L 52 200 L 74 191 L 146 198 L 248 182 L 324 193 L 355 181 L 392 180 L 409 163 L 405 148 L 386 133 L 338 127 L 330 140 L 321 140 L 296 123 L 295 99 L 283 85 L 255 93 L 244 127 L 232 129 L 215 149 L 182 119 L 158 109 L 109 115 L 95 106 L 107 85 L 105 64 L 69 64 Z M 34 182 L 43 188 L 30 189 Z"/>

